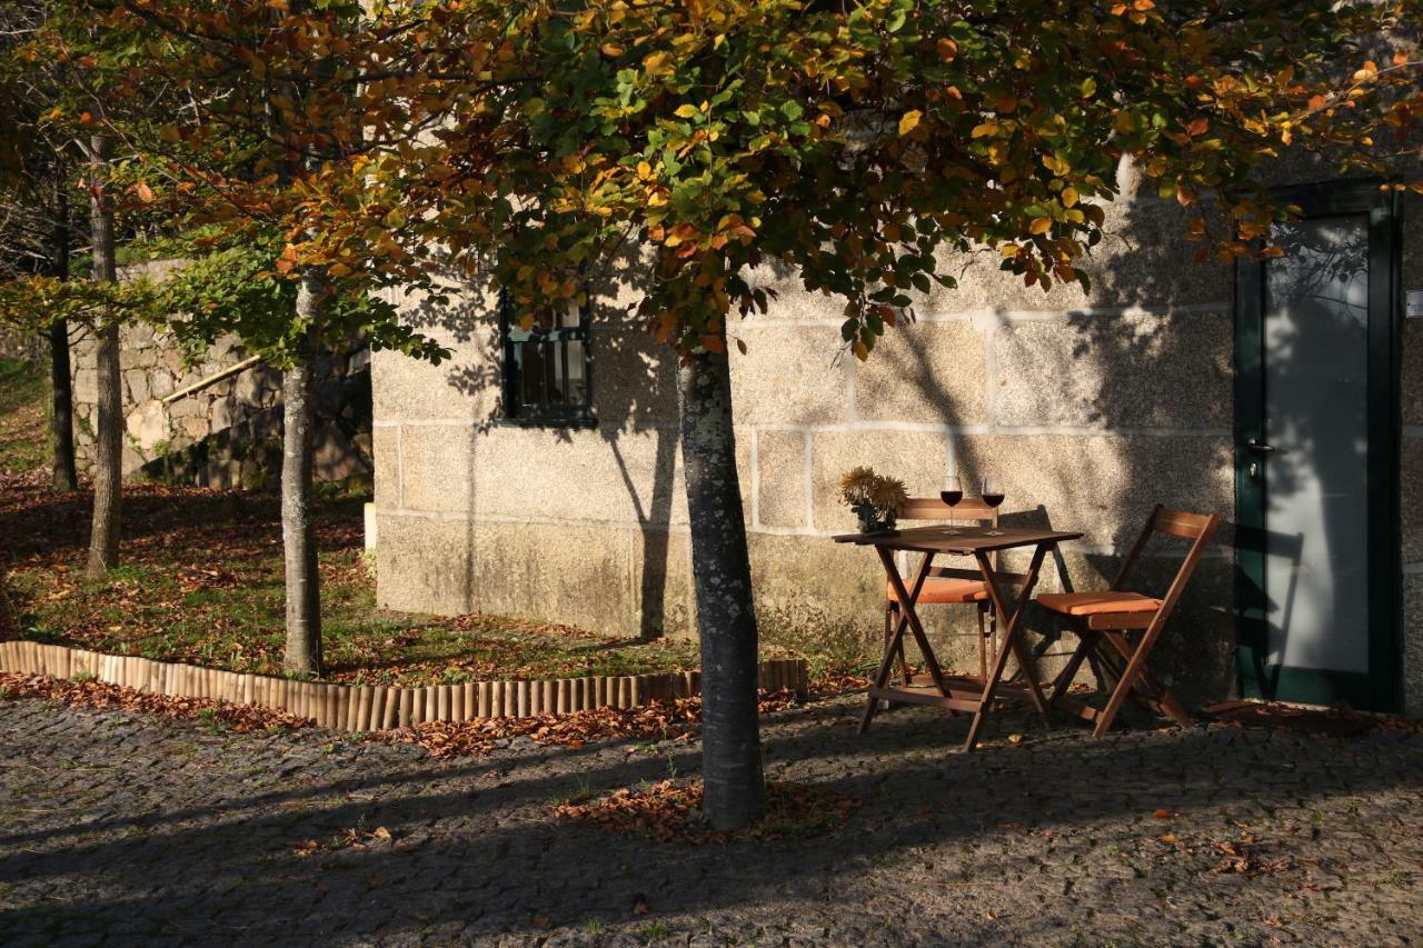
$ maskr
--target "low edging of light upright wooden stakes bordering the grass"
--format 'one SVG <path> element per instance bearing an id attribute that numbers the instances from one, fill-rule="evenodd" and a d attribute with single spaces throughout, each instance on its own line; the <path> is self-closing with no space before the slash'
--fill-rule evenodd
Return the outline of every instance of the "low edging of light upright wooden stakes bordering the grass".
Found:
<path id="1" fill-rule="evenodd" d="M 312 717 L 319 727 L 349 732 L 388 730 L 433 720 L 539 717 L 598 707 L 640 707 L 655 700 L 702 693 L 702 672 L 511 679 L 414 688 L 327 685 L 26 641 L 0 642 L 0 672 L 51 678 L 88 675 L 100 682 L 151 695 L 260 705 Z M 810 686 L 805 659 L 761 662 L 758 683 L 767 690 L 790 689 L 804 697 Z"/>

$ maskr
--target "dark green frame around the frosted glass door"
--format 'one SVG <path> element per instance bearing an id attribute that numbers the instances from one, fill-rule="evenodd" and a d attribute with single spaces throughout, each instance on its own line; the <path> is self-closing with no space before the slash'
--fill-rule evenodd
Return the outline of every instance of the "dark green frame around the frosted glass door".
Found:
<path id="1" fill-rule="evenodd" d="M 1399 399 L 1402 208 L 1380 181 L 1338 181 L 1274 192 L 1305 218 L 1369 215 L 1368 434 L 1369 463 L 1369 670 L 1332 672 L 1266 666 L 1264 475 L 1249 474 L 1261 455 L 1247 441 L 1264 441 L 1264 288 L 1266 262 L 1239 260 L 1235 270 L 1235 514 L 1237 672 L 1247 697 L 1281 697 L 1312 705 L 1346 700 L 1369 710 L 1397 710 L 1402 695 L 1402 532 L 1399 525 Z M 1385 279 L 1375 279 L 1383 273 Z"/>

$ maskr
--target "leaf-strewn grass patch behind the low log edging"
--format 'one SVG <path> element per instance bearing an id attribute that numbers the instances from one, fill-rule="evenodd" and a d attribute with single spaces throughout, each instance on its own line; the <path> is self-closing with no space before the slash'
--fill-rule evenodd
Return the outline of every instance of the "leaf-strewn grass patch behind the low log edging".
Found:
<path id="1" fill-rule="evenodd" d="M 696 668 L 686 639 L 642 642 L 497 615 L 406 615 L 376 606 L 363 555 L 361 495 L 323 491 L 326 680 L 457 683 L 498 678 L 639 675 Z M 117 655 L 282 673 L 283 572 L 277 501 L 245 491 L 125 487 L 122 565 L 83 578 L 88 498 L 0 483 L 7 576 L 24 638 Z M 0 549 L 0 555 L 6 551 Z M 767 646 L 767 658 L 787 656 Z"/>

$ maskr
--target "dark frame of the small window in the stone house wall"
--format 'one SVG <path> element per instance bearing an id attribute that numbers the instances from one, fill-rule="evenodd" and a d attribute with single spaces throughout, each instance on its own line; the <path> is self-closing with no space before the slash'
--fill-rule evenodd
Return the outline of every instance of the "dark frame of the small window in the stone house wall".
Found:
<path id="1" fill-rule="evenodd" d="M 535 323 L 532 329 L 522 329 L 512 316 L 508 295 L 499 293 L 499 374 L 502 383 L 502 404 L 499 423 L 531 428 L 592 428 L 598 426 L 593 417 L 593 344 L 592 326 L 588 306 L 576 306 L 576 326 L 561 326 Z M 561 322 L 561 320 L 551 320 Z M 525 403 L 522 391 L 524 360 L 519 346 L 531 339 L 544 337 L 558 349 L 558 359 L 562 362 L 564 377 L 569 377 L 569 342 L 581 342 L 583 349 L 583 391 L 585 401 L 571 404 L 568 401 L 554 403 L 548 399 L 552 379 L 544 379 L 544 401 Z"/>

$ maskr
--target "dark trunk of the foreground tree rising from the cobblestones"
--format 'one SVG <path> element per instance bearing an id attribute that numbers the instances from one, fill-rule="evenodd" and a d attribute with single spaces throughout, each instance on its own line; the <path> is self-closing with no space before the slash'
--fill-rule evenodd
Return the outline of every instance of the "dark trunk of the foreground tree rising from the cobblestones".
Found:
<path id="1" fill-rule="evenodd" d="M 694 356 L 677 370 L 677 403 L 702 635 L 704 811 L 716 828 L 736 830 L 766 811 L 766 779 L 756 707 L 751 565 L 724 352 Z"/>

